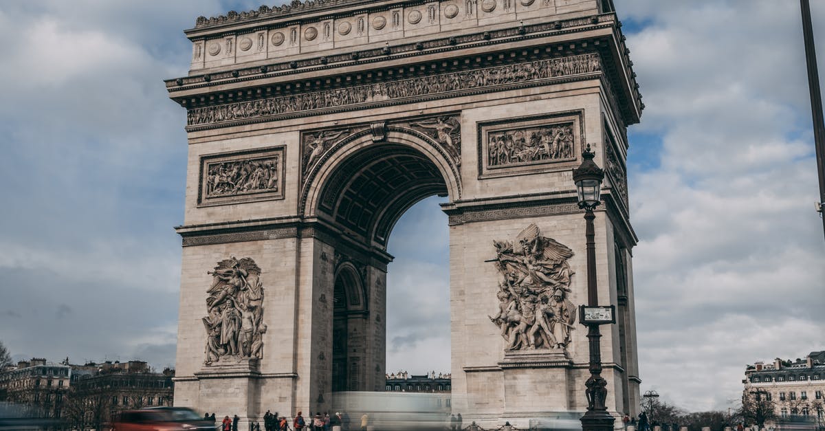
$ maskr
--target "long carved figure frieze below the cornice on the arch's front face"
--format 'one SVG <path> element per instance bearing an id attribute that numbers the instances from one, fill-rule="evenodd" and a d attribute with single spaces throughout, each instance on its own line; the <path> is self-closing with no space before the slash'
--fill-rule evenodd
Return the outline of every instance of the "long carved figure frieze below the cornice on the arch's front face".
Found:
<path id="1" fill-rule="evenodd" d="M 186 125 L 226 126 L 250 119 L 270 120 L 269 117 L 301 111 L 329 110 L 342 107 L 361 107 L 366 104 L 385 104 L 415 98 L 455 97 L 456 91 L 498 91 L 512 84 L 544 84 L 549 78 L 573 76 L 601 71 L 599 54 L 579 54 L 557 59 L 542 59 L 521 64 L 507 64 L 483 69 L 441 73 L 384 83 L 356 85 L 318 92 L 304 92 L 292 96 L 270 97 L 247 102 L 235 102 L 214 107 L 192 108 L 186 114 Z M 328 111 L 325 111 L 325 113 Z"/>

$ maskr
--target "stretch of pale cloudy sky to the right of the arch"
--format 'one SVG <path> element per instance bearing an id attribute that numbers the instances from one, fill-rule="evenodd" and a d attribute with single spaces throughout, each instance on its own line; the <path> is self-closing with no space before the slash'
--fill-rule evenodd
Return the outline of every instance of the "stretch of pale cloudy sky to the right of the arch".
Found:
<path id="1" fill-rule="evenodd" d="M 659 154 L 631 140 L 629 159 L 659 162 L 630 173 L 643 390 L 724 410 L 747 363 L 825 348 L 799 10 L 617 3 L 644 23 L 629 45 L 648 109 L 631 133 L 662 140 Z"/>

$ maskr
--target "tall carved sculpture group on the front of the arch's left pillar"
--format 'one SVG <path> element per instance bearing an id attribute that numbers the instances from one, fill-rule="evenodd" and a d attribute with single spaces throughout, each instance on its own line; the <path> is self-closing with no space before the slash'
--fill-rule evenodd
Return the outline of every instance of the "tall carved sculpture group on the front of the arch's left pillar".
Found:
<path id="1" fill-rule="evenodd" d="M 263 358 L 263 285 L 252 258 L 220 261 L 206 289 L 206 366 Z M 216 362 L 219 362 L 216 364 Z"/>

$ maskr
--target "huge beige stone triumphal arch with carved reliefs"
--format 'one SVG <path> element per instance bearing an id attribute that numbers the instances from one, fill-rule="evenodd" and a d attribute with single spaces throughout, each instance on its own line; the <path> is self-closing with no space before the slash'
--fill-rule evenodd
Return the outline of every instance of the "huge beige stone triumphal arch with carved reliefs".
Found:
<path id="1" fill-rule="evenodd" d="M 261 420 L 384 391 L 386 251 L 425 197 L 450 230 L 452 410 L 583 412 L 596 211 L 613 414 L 636 414 L 626 127 L 643 108 L 610 0 L 295 0 L 200 17 L 167 80 L 189 142 L 175 403 Z M 445 330 L 448 330 L 445 328 Z"/>

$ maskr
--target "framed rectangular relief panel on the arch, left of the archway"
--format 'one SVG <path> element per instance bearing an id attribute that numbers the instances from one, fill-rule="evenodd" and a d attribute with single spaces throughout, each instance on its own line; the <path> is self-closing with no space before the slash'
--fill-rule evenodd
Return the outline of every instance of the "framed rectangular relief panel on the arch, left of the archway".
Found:
<path id="1" fill-rule="evenodd" d="M 284 198 L 286 147 L 200 156 L 198 206 Z"/>

